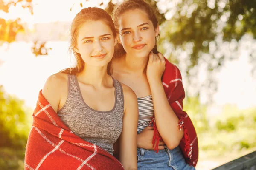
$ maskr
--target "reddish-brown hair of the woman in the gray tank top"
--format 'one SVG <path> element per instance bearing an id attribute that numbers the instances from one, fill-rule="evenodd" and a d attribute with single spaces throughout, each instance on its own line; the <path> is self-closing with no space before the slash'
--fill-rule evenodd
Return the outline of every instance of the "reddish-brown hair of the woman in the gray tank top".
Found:
<path id="1" fill-rule="evenodd" d="M 71 28 L 70 28 L 70 34 L 71 34 L 71 39 L 70 39 L 70 46 L 69 46 L 69 52 L 74 54 L 74 57 L 76 59 L 76 65 L 72 68 L 66 68 L 62 70 L 62 73 L 67 73 L 67 74 L 76 74 L 81 72 L 84 69 L 84 60 L 81 57 L 81 54 L 77 53 L 74 48 L 76 47 L 77 43 L 77 37 L 78 37 L 78 30 L 81 28 L 81 26 L 88 20 L 91 21 L 104 21 L 111 31 L 113 32 L 114 38 L 116 38 L 116 30 L 115 26 L 113 23 L 113 20 L 111 16 L 104 11 L 101 8 L 96 8 L 96 7 L 89 7 L 89 8 L 84 8 L 82 9 L 78 14 L 76 14 L 76 17 L 73 19 Z M 108 63 L 107 67 L 107 73 L 109 75 L 112 74 L 112 59 Z"/>

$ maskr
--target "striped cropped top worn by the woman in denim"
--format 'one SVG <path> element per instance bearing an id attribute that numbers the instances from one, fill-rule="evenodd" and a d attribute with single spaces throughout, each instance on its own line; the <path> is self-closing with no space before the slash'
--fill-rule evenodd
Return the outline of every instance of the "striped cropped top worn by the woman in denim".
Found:
<path id="1" fill-rule="evenodd" d="M 154 115 L 154 106 L 152 96 L 141 97 L 137 99 L 139 106 L 139 121 L 137 133 L 140 133 L 149 125 Z"/>

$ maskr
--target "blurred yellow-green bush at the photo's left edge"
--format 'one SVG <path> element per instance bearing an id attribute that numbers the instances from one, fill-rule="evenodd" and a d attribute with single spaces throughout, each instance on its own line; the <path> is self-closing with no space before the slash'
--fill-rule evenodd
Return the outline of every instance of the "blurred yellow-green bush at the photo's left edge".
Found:
<path id="1" fill-rule="evenodd" d="M 0 147 L 25 147 L 31 116 L 24 101 L 7 94 L 0 86 Z"/>

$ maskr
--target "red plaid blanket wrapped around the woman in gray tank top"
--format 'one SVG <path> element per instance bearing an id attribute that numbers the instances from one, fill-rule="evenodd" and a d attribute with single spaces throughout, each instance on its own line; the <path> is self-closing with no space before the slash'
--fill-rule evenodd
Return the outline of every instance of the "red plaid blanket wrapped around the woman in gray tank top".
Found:
<path id="1" fill-rule="evenodd" d="M 76 136 L 39 92 L 26 145 L 25 170 L 123 170 L 102 148 Z"/>

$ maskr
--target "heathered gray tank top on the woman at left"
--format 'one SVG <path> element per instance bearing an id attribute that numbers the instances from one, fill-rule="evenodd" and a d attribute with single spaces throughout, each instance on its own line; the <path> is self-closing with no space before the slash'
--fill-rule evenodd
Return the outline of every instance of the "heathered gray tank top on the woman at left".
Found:
<path id="1" fill-rule="evenodd" d="M 58 116 L 74 134 L 113 155 L 113 143 L 122 132 L 124 112 L 122 85 L 113 79 L 115 105 L 111 111 L 96 111 L 83 100 L 76 75 L 68 76 L 68 97 Z"/>

